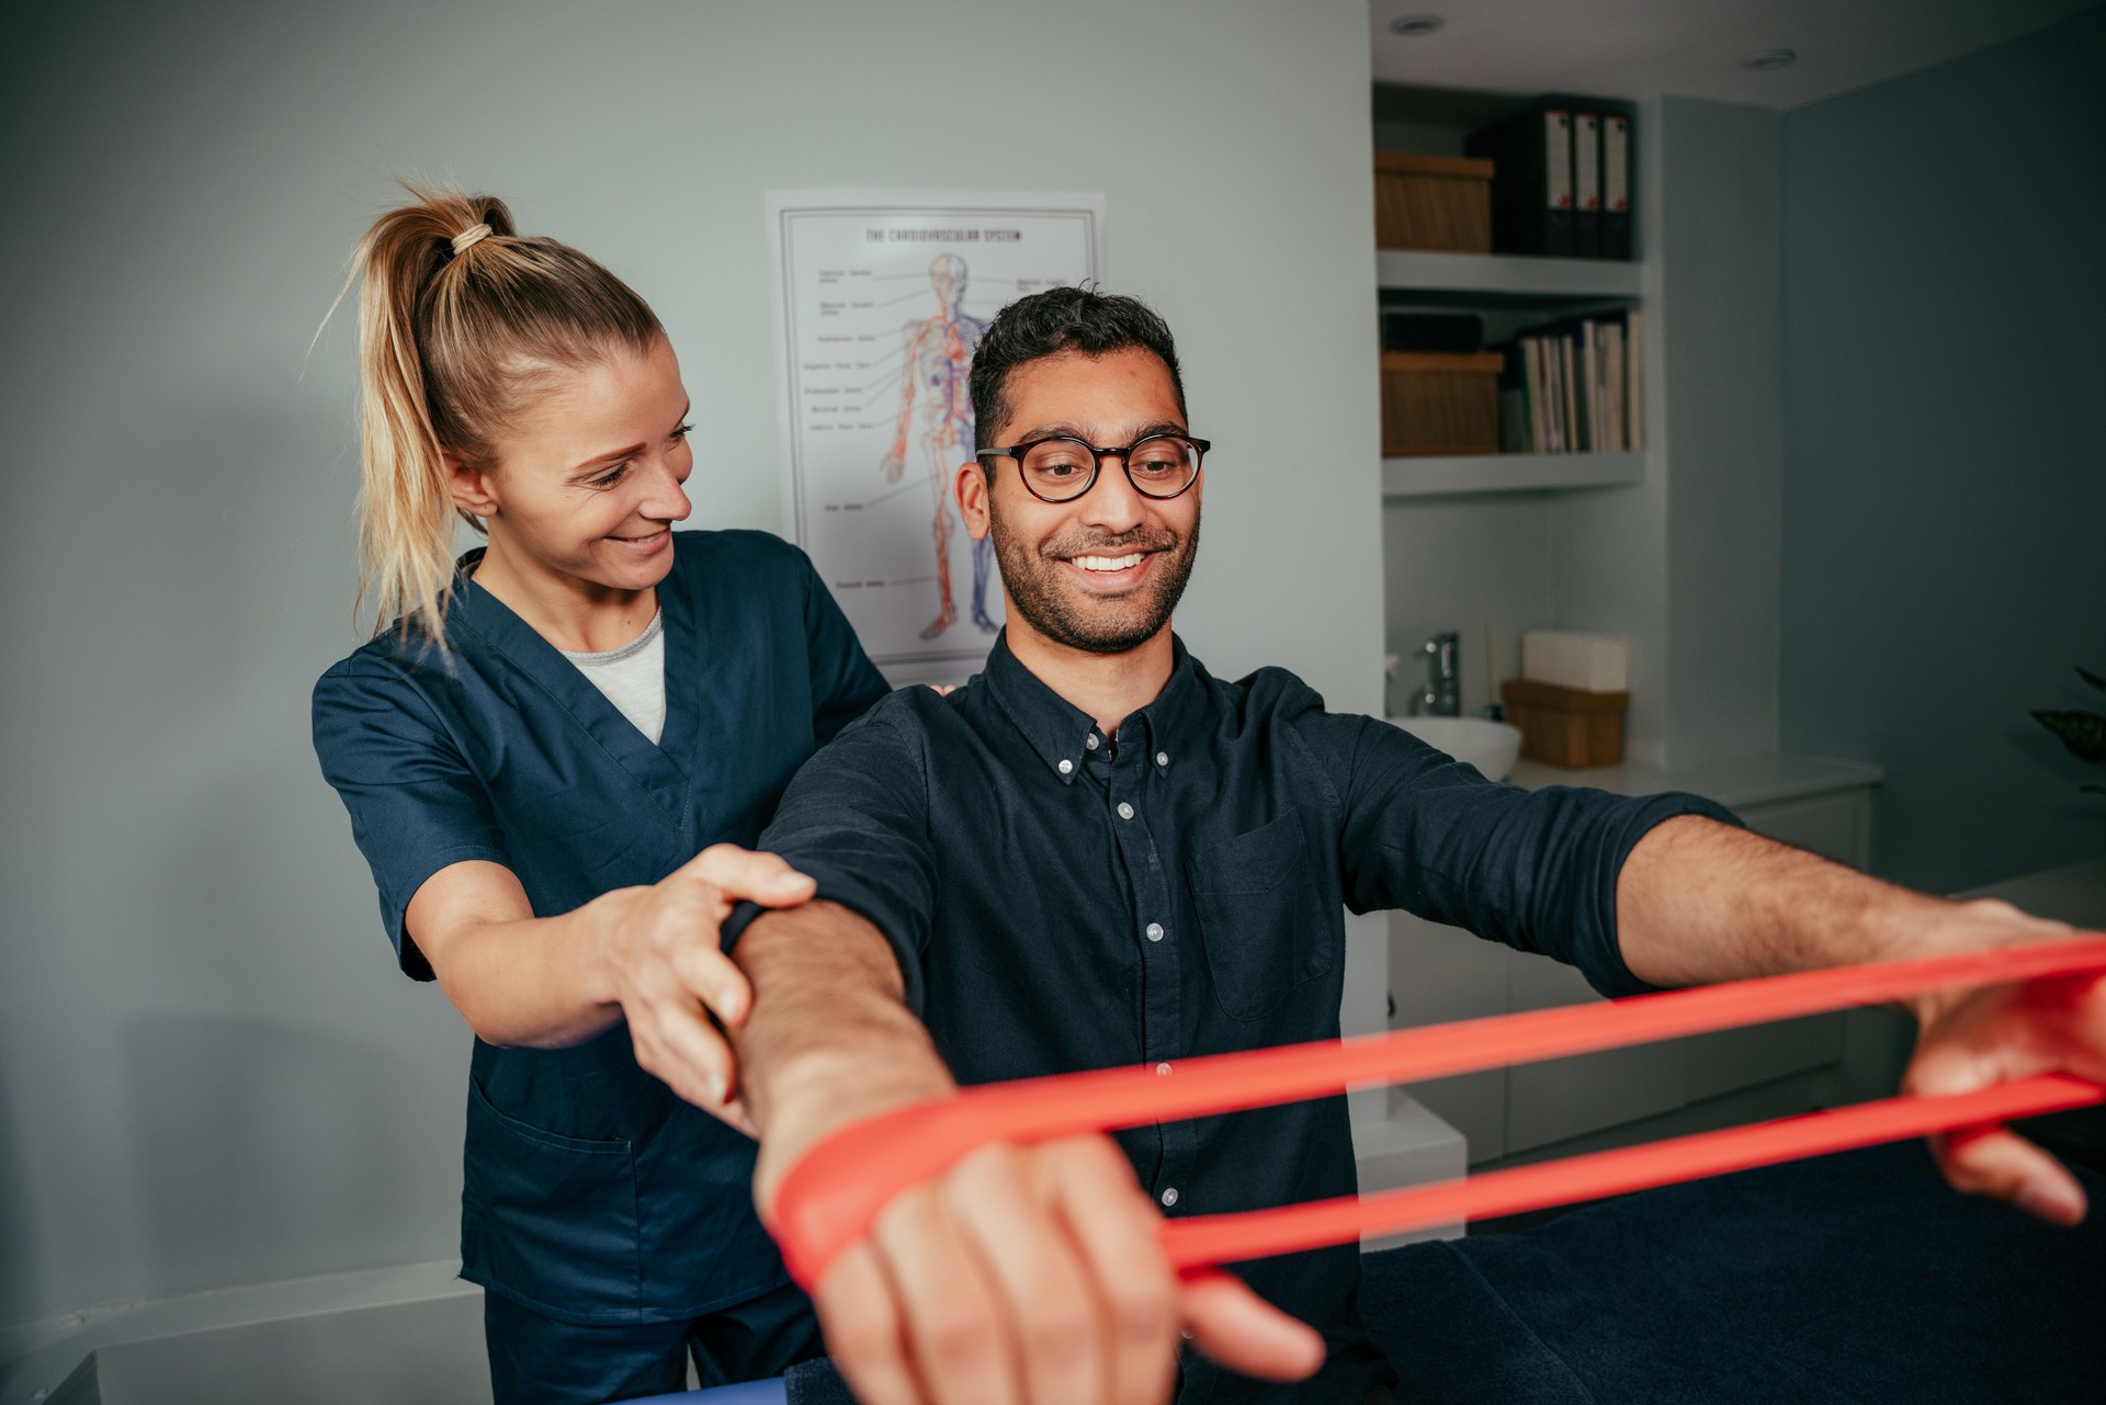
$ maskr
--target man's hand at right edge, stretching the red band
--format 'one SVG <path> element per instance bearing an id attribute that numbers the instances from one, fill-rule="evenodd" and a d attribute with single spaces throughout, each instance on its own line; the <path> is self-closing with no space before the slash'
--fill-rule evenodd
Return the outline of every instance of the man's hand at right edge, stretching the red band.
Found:
<path id="1" fill-rule="evenodd" d="M 2068 933 L 2062 923 L 2026 916 L 2009 904 L 1969 902 L 1954 904 L 1948 923 L 1927 931 L 1925 942 L 1931 950 L 1975 950 Z M 2106 1083 L 2106 975 L 1938 992 L 1916 1001 L 1916 1022 L 1906 1093 L 1946 1097 L 2043 1072 Z M 2077 1178 L 2015 1131 L 1952 1131 L 1933 1137 L 1931 1152 L 1956 1190 L 2011 1201 L 2051 1224 L 2085 1218 Z"/>

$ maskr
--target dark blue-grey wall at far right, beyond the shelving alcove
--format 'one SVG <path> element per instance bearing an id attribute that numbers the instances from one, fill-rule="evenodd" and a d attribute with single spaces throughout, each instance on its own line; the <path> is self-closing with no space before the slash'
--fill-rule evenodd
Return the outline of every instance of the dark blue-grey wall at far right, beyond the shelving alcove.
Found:
<path id="1" fill-rule="evenodd" d="M 1782 733 L 1910 885 L 2106 849 L 2026 716 L 2106 670 L 2102 74 L 2093 11 L 1784 118 Z"/>

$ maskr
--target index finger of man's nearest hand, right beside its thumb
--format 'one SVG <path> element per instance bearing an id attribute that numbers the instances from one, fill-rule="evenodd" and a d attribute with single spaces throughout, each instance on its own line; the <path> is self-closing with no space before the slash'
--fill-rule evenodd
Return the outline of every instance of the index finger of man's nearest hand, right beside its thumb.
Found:
<path id="1" fill-rule="evenodd" d="M 1163 1258 L 1163 1218 L 1106 1137 L 1068 1137 L 1038 1148 L 1045 1196 L 1082 1251 L 1110 1333 L 1116 1405 L 1169 1399 L 1177 1378 L 1177 1277 Z"/>

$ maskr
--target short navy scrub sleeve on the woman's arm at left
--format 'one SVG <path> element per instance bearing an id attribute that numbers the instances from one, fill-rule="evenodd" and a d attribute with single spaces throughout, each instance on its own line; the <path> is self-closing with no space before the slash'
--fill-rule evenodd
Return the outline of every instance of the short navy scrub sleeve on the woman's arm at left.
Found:
<path id="1" fill-rule="evenodd" d="M 417 687 L 385 664 L 339 664 L 314 685 L 314 752 L 337 788 L 411 979 L 432 963 L 402 929 L 409 899 L 449 864 L 510 868 L 489 794 Z"/>

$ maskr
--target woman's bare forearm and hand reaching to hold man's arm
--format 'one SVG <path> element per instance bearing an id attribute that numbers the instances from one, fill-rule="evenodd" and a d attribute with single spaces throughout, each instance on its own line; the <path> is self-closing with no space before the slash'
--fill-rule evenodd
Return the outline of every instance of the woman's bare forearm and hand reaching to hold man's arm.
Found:
<path id="1" fill-rule="evenodd" d="M 644 1072 L 743 1125 L 727 1097 L 731 1047 L 710 1015 L 737 1028 L 752 990 L 716 931 L 739 899 L 779 908 L 811 891 L 775 855 L 712 845 L 659 883 L 535 916 L 510 868 L 470 859 L 417 889 L 404 927 L 484 1043 L 558 1049 L 628 1020 Z"/>

